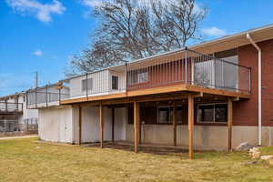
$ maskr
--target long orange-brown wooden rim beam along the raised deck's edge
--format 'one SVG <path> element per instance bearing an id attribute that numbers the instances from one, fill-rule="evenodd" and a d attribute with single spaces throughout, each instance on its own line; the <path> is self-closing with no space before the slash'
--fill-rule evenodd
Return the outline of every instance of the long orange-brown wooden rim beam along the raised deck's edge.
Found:
<path id="1" fill-rule="evenodd" d="M 231 96 L 231 97 L 239 97 L 239 98 L 248 98 L 248 94 L 240 93 L 240 92 L 232 92 L 228 90 L 220 90 L 215 88 L 207 88 L 201 86 L 192 86 L 192 85 L 175 85 L 175 86 L 162 86 L 162 87 L 155 87 L 155 88 L 147 88 L 147 89 L 137 89 L 131 90 L 124 93 L 119 94 L 112 94 L 106 96 L 84 96 L 81 98 L 72 98 L 61 101 L 61 105 L 66 104 L 75 104 L 81 102 L 101 102 L 104 100 L 111 100 L 117 98 L 127 98 L 128 100 L 137 97 L 137 96 L 156 96 L 160 94 L 167 94 L 167 93 L 177 93 L 177 92 L 192 92 L 197 93 L 197 95 L 204 94 L 211 94 L 216 96 Z M 201 94 L 200 94 L 201 93 Z M 135 102 L 137 100 L 133 100 Z"/>

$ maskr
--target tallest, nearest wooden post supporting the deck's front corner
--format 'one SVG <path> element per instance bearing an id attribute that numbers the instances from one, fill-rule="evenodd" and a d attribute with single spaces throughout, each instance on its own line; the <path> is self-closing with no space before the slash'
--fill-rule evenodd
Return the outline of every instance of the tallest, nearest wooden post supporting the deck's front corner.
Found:
<path id="1" fill-rule="evenodd" d="M 189 95 L 188 99 L 188 116 L 187 116 L 187 125 L 188 125 L 188 157 L 189 159 L 193 158 L 193 127 L 194 127 L 194 97 Z"/>

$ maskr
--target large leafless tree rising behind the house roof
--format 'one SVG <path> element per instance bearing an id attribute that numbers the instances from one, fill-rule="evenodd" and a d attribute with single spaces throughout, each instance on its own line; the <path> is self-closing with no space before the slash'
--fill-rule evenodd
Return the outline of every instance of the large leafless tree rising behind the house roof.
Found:
<path id="1" fill-rule="evenodd" d="M 73 69 L 67 73 L 94 71 L 181 48 L 200 38 L 198 26 L 206 13 L 195 0 L 102 3 L 93 14 L 100 24 L 91 35 L 93 44 L 72 57 Z"/>

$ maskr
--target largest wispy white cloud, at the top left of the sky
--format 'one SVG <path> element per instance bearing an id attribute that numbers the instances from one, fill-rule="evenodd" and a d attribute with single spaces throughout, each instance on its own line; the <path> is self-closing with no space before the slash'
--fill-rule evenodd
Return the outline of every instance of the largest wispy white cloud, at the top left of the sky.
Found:
<path id="1" fill-rule="evenodd" d="M 6 3 L 20 13 L 34 14 L 42 22 L 51 22 L 52 15 L 62 15 L 66 7 L 57 0 L 51 4 L 42 4 L 36 0 L 5 0 Z"/>

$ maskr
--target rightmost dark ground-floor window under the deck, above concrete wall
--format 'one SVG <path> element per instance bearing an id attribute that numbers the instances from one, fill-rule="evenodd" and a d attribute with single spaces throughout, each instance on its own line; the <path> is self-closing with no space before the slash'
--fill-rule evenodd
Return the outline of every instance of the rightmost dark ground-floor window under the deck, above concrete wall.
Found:
<path id="1" fill-rule="evenodd" d="M 227 104 L 214 103 L 197 106 L 198 123 L 226 123 Z"/>

